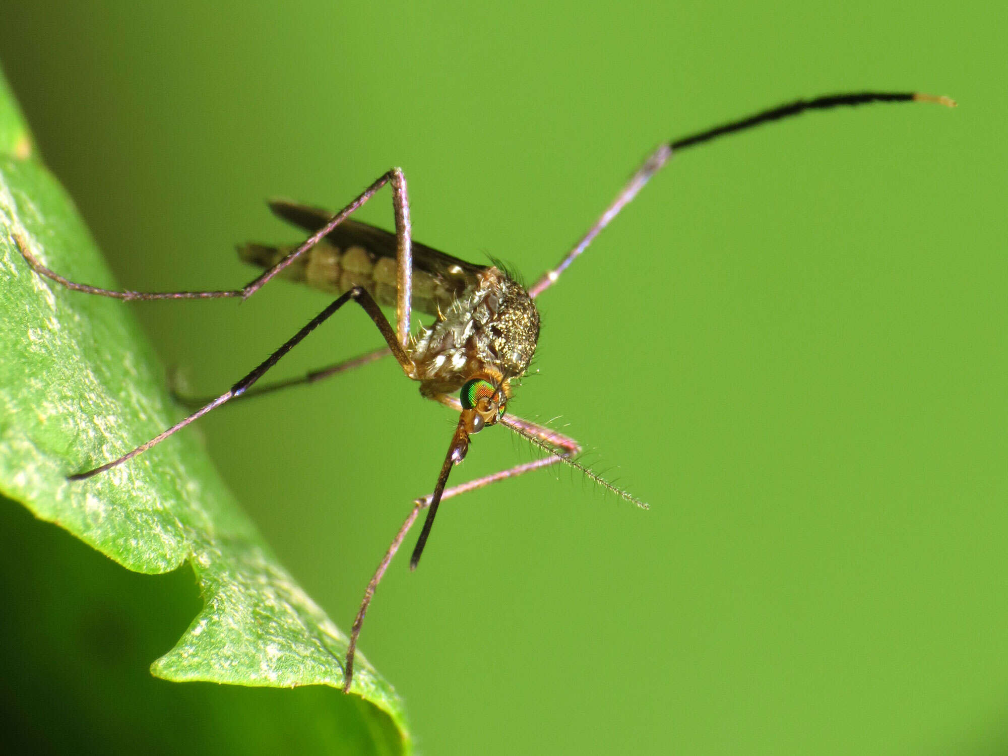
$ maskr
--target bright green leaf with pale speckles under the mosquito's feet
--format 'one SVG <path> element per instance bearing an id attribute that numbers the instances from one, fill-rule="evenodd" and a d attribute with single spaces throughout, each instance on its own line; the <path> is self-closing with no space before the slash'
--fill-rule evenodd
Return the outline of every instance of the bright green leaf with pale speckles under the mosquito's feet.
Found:
<path id="1" fill-rule="evenodd" d="M 156 435 L 182 412 L 130 305 L 67 290 L 21 256 L 14 235 L 68 278 L 115 285 L 30 144 L 0 79 L 0 493 L 137 573 L 188 562 L 203 611 L 151 665 L 155 675 L 342 686 L 346 635 L 277 562 L 192 432 L 95 478 L 67 480 Z M 372 731 L 397 733 L 393 750 L 408 750 L 402 703 L 361 655 L 353 691 L 373 705 L 358 707 Z"/>

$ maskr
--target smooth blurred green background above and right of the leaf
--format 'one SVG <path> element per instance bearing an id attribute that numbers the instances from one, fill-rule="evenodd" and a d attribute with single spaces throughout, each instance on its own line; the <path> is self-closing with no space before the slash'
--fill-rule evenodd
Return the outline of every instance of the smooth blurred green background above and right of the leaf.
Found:
<path id="1" fill-rule="evenodd" d="M 362 647 L 426 753 L 993 754 L 1006 22 L 981 2 L 0 0 L 0 61 L 139 289 L 244 283 L 235 242 L 297 239 L 264 198 L 336 209 L 391 165 L 417 239 L 532 279 L 661 139 L 834 91 L 958 99 L 676 159 L 543 294 L 510 405 L 558 416 L 651 511 L 568 470 L 452 501 Z M 277 283 L 135 312 L 207 393 L 327 301 Z M 277 377 L 378 344 L 348 312 Z M 383 362 L 187 432 L 348 628 L 452 427 Z M 454 480 L 532 456 L 488 431 Z"/>

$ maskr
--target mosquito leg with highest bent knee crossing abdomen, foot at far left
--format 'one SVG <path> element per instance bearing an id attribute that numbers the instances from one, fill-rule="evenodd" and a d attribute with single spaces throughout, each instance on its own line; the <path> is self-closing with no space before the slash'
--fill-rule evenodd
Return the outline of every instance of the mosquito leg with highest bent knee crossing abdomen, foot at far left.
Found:
<path id="1" fill-rule="evenodd" d="M 270 269 L 264 271 L 254 280 L 239 289 L 225 289 L 216 291 L 130 291 L 114 290 L 91 286 L 86 283 L 78 283 L 66 278 L 55 271 L 45 267 L 37 257 L 31 252 L 26 240 L 20 234 L 13 234 L 14 243 L 24 256 L 25 261 L 39 275 L 42 275 L 72 291 L 81 291 L 86 294 L 97 294 L 108 296 L 114 299 L 126 301 L 151 301 L 155 299 L 222 299 L 241 298 L 247 299 L 266 283 L 276 276 L 280 271 L 290 265 L 294 260 L 307 252 L 318 244 L 327 234 L 343 223 L 354 211 L 370 200 L 386 183 L 392 183 L 392 206 L 395 212 L 395 229 L 398 241 L 396 259 L 398 261 L 397 285 L 399 286 L 399 296 L 397 301 L 396 325 L 399 333 L 399 346 L 405 347 L 409 339 L 409 305 L 410 305 L 410 281 L 412 276 L 412 255 L 410 243 L 409 225 L 409 199 L 406 194 L 406 177 L 400 168 L 392 168 L 379 176 L 370 186 L 362 192 L 356 200 L 345 207 L 333 219 L 323 226 L 319 231 L 304 240 L 293 252 L 284 257 Z M 403 293 L 403 283 L 406 284 Z"/>

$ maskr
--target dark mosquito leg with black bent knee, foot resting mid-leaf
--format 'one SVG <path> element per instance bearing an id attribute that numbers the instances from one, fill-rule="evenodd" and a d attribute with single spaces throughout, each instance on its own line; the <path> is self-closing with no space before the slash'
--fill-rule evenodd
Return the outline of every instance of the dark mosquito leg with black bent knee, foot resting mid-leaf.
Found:
<path id="1" fill-rule="evenodd" d="M 102 465 L 101 467 L 95 468 L 94 470 L 88 470 L 83 473 L 77 473 L 76 475 L 69 476 L 70 479 L 75 481 L 84 480 L 85 478 L 91 478 L 94 475 L 98 475 L 99 473 L 104 473 L 106 470 L 110 470 L 111 468 L 121 465 L 124 462 L 133 459 L 137 455 L 143 454 L 151 447 L 160 444 L 169 435 L 172 435 L 176 431 L 181 430 L 191 422 L 199 419 L 200 417 L 203 417 L 203 415 L 207 414 L 211 410 L 217 409 L 217 407 L 221 406 L 225 402 L 241 396 L 249 388 L 251 388 L 251 386 L 256 381 L 258 381 L 270 368 L 276 365 L 276 363 L 279 362 L 284 355 L 286 355 L 291 349 L 296 347 L 304 339 L 304 337 L 306 337 L 308 334 L 310 334 L 312 331 L 319 328 L 319 326 L 321 326 L 323 323 L 329 320 L 329 318 L 332 317 L 332 314 L 336 312 L 336 310 L 338 310 L 340 307 L 342 307 L 344 304 L 346 304 L 348 301 L 351 300 L 354 300 L 358 304 L 360 304 L 364 308 L 364 311 L 366 311 L 368 316 L 371 318 L 371 320 L 374 321 L 374 324 L 375 326 L 378 327 L 378 330 L 381 332 L 381 335 L 385 337 L 385 341 L 388 344 L 389 350 L 395 356 L 395 359 L 398 360 L 399 365 L 402 366 L 403 372 L 409 375 L 413 369 L 413 362 L 409 358 L 409 355 L 406 354 L 406 351 L 402 347 L 400 347 L 399 343 L 396 341 L 395 332 L 392 330 L 392 326 L 386 320 L 385 316 L 382 313 L 381 309 L 379 308 L 375 300 L 371 298 L 371 294 L 369 294 L 361 286 L 354 286 L 354 288 L 347 291 L 345 294 L 336 299 L 332 304 L 330 304 L 328 307 L 322 310 L 322 312 L 312 318 L 303 328 L 301 328 L 300 331 L 298 331 L 290 339 L 288 339 L 279 349 L 273 352 L 273 354 L 271 354 L 263 363 L 261 363 L 257 368 L 255 368 L 252 372 L 250 372 L 248 375 L 246 375 L 244 378 L 238 381 L 238 383 L 236 383 L 229 390 L 225 391 L 223 394 L 218 396 L 216 399 L 214 399 L 207 405 L 201 407 L 196 412 L 191 414 L 188 417 L 179 420 L 174 425 L 169 427 L 167 430 L 159 433 L 158 435 L 155 435 L 146 444 L 140 445 L 139 447 L 132 450 L 131 452 L 128 452 L 119 459 L 113 460 L 112 462 L 108 462 Z"/>

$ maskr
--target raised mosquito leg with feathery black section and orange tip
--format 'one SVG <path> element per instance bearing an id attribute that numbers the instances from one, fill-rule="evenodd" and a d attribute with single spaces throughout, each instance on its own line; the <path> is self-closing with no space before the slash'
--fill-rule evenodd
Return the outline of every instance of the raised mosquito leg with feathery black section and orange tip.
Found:
<path id="1" fill-rule="evenodd" d="M 560 277 L 560 274 L 568 269 L 568 267 L 577 259 L 577 257 L 584 252 L 588 245 L 591 244 L 595 237 L 597 237 L 606 226 L 609 225 L 620 211 L 623 210 L 640 192 L 644 185 L 651 180 L 651 176 L 657 173 L 664 165 L 668 162 L 668 158 L 672 156 L 672 152 L 678 152 L 679 150 L 685 149 L 686 147 L 692 147 L 697 144 L 703 144 L 704 142 L 709 142 L 712 139 L 717 139 L 718 137 L 725 136 L 726 134 L 734 134 L 738 131 L 745 131 L 746 129 L 751 129 L 754 126 L 759 126 L 764 123 L 769 123 L 770 121 L 779 121 L 784 118 L 790 118 L 791 116 L 796 116 L 800 113 L 804 113 L 808 110 L 829 110 L 831 108 L 837 108 L 840 106 L 858 106 L 866 105 L 868 103 L 897 103 L 897 102 L 926 102 L 934 103 L 937 105 L 944 105 L 946 107 L 955 107 L 956 103 L 950 100 L 948 97 L 934 97 L 933 95 L 923 95 L 919 92 L 848 92 L 840 95 L 825 95 L 823 97 L 816 97 L 811 100 L 795 100 L 792 103 L 787 103 L 785 105 L 778 105 L 775 108 L 770 108 L 769 110 L 764 110 L 756 113 L 746 118 L 740 118 L 737 121 L 731 121 L 729 123 L 724 123 L 720 126 L 716 126 L 713 129 L 708 129 L 706 131 L 701 131 L 696 134 L 690 134 L 689 136 L 682 137 L 681 139 L 674 139 L 664 144 L 661 144 L 654 152 L 648 155 L 644 164 L 641 165 L 637 172 L 633 174 L 627 184 L 623 190 L 616 196 L 612 204 L 606 208 L 606 211 L 599 217 L 599 220 L 593 224 L 592 228 L 583 236 L 577 244 L 568 252 L 563 259 L 560 260 L 559 264 L 552 270 L 547 270 L 542 276 L 537 280 L 531 288 L 528 289 L 528 293 L 533 298 L 541 294 L 547 288 L 549 288 L 556 279 Z"/>

